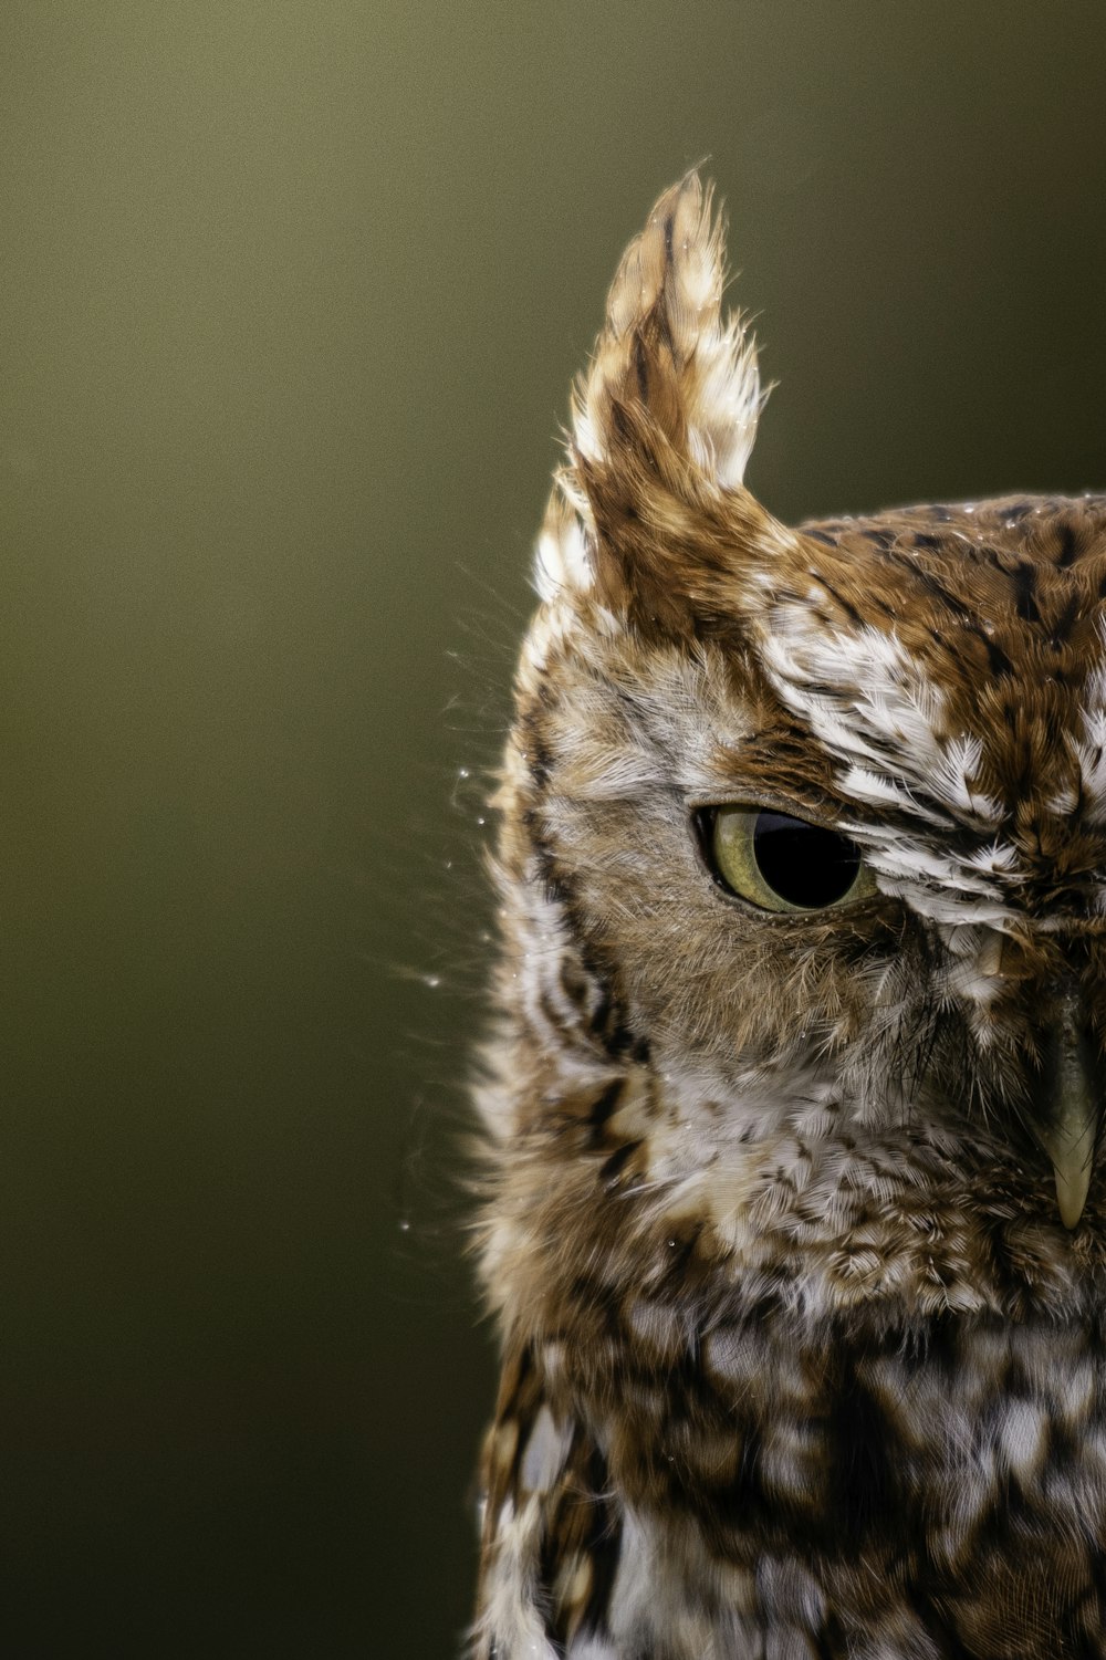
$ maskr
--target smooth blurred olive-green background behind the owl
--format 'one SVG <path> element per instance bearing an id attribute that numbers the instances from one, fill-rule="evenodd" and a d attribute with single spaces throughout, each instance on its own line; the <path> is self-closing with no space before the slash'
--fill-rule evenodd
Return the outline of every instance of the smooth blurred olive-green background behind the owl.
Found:
<path id="1" fill-rule="evenodd" d="M 485 769 L 609 276 L 709 158 L 784 518 L 1101 488 L 1104 48 L 8 0 L 3 1653 L 457 1652 Z"/>

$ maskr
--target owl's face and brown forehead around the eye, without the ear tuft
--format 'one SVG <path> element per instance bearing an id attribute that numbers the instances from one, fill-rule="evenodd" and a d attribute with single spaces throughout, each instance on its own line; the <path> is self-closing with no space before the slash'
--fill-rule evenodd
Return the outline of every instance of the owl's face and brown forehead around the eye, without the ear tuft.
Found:
<path id="1" fill-rule="evenodd" d="M 1071 1225 L 1106 1021 L 1106 503 L 759 535 L 729 569 L 694 541 L 651 566 L 664 611 L 631 632 L 638 594 L 598 576 L 551 599 L 546 880 L 681 1101 L 754 1139 L 797 1087 L 922 1119 L 976 1200 L 1003 1149 L 1033 1205 L 1055 1167 Z"/>

